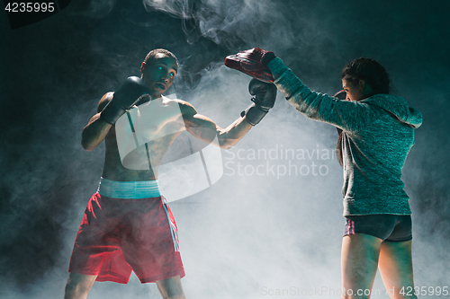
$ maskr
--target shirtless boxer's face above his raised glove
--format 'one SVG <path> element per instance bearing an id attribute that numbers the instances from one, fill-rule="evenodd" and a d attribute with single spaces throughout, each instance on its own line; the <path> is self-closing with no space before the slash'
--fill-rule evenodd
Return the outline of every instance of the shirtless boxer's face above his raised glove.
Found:
<path id="1" fill-rule="evenodd" d="M 142 64 L 142 80 L 150 87 L 153 99 L 159 98 L 174 83 L 177 69 L 175 59 L 164 53 L 157 53 L 147 64 Z"/>

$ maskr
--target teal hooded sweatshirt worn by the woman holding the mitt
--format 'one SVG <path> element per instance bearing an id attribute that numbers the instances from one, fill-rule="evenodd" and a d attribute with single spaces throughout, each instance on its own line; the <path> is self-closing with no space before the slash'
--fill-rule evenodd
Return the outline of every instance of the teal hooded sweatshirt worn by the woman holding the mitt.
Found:
<path id="1" fill-rule="evenodd" d="M 343 101 L 312 92 L 279 57 L 267 67 L 296 110 L 343 130 L 344 216 L 410 215 L 401 170 L 422 124 L 420 111 L 390 94 Z"/>

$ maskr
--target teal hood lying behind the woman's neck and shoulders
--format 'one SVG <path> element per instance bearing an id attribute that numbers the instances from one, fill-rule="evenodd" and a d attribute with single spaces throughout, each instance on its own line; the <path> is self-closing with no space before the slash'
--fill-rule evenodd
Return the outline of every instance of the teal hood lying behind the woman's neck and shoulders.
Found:
<path id="1" fill-rule="evenodd" d="M 393 117 L 412 128 L 422 125 L 422 113 L 412 108 L 401 97 L 391 94 L 375 94 L 365 100 L 359 101 L 371 106 L 379 107 L 388 111 Z"/>

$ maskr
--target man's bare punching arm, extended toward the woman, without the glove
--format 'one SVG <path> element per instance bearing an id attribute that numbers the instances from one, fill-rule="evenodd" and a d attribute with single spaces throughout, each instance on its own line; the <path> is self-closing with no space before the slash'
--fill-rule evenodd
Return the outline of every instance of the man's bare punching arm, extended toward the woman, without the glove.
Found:
<path id="1" fill-rule="evenodd" d="M 236 145 L 240 138 L 252 128 L 245 116 L 236 119 L 227 128 L 220 128 L 211 119 L 197 113 L 197 110 L 188 102 L 180 104 L 180 108 L 183 114 L 184 126 L 192 136 L 209 144 L 217 136 L 219 146 L 223 149 L 229 149 Z"/>

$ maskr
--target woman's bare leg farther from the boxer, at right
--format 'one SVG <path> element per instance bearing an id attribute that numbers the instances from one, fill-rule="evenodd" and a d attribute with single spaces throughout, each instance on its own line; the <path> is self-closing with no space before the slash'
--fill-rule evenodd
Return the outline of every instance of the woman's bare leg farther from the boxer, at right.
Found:
<path id="1" fill-rule="evenodd" d="M 392 299 L 417 298 L 414 295 L 411 241 L 383 242 L 378 267 Z"/>

